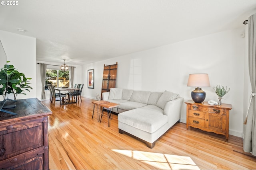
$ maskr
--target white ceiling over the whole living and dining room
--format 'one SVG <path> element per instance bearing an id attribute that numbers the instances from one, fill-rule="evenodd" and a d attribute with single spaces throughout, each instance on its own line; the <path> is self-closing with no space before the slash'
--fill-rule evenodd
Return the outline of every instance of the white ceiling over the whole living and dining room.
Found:
<path id="1" fill-rule="evenodd" d="M 35 37 L 39 61 L 86 64 L 242 27 L 255 12 L 256 0 L 18 0 L 0 5 L 0 29 Z"/>

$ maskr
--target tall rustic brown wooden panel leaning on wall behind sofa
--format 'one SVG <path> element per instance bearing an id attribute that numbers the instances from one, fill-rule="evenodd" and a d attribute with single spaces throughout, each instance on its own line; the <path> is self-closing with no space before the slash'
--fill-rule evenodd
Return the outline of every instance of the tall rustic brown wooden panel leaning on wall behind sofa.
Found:
<path id="1" fill-rule="evenodd" d="M 101 88 L 101 100 L 102 93 L 109 92 L 110 88 L 116 87 L 116 73 L 117 73 L 117 62 L 113 65 L 106 66 L 104 64 L 102 88 Z"/>

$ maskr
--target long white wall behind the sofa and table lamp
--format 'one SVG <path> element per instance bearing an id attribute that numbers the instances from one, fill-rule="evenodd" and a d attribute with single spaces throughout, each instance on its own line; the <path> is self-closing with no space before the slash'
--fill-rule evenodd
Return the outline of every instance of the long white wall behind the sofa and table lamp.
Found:
<path id="1" fill-rule="evenodd" d="M 118 62 L 117 88 L 163 92 L 169 90 L 180 94 L 184 101 L 191 100 L 187 87 L 190 73 L 208 73 L 210 88 L 206 100 L 217 101 L 213 86 L 230 87 L 222 102 L 232 104 L 230 111 L 230 134 L 241 137 L 244 100 L 245 40 L 241 37 L 244 27 L 198 37 L 174 44 L 140 51 L 113 59 L 83 66 L 83 96 L 94 98 L 101 92 L 104 64 Z M 87 88 L 87 70 L 94 68 L 94 89 Z M 182 107 L 182 122 L 186 122 L 186 105 Z"/>

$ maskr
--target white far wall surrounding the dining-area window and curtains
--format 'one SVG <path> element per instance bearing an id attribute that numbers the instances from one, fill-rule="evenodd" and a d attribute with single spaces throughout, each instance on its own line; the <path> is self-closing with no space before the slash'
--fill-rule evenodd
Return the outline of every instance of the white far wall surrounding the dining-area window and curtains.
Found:
<path id="1" fill-rule="evenodd" d="M 50 64 L 47 66 L 48 69 L 60 69 L 60 66 L 64 63 L 50 63 L 50 62 L 45 62 L 45 61 L 36 61 L 36 97 L 40 100 L 41 98 L 41 93 L 42 93 L 42 83 L 41 83 L 41 75 L 40 75 L 40 65 L 37 63 L 45 63 L 45 64 Z M 74 69 L 74 84 L 82 84 L 82 66 L 80 65 L 71 65 L 66 63 L 68 66 L 75 66 L 76 68 Z M 51 65 L 57 65 L 57 66 L 51 66 Z M 85 85 L 84 85 L 85 86 Z M 46 100 L 50 99 L 50 93 L 49 90 L 45 90 L 45 98 Z"/>

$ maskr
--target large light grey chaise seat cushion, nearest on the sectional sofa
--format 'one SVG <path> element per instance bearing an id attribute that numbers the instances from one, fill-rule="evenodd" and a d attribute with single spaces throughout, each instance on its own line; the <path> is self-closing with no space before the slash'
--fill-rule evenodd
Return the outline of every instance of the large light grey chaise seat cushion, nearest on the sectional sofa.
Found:
<path id="1" fill-rule="evenodd" d="M 148 105 L 118 114 L 118 121 L 142 131 L 154 133 L 168 121 L 168 116 L 163 112 L 157 106 Z"/>

